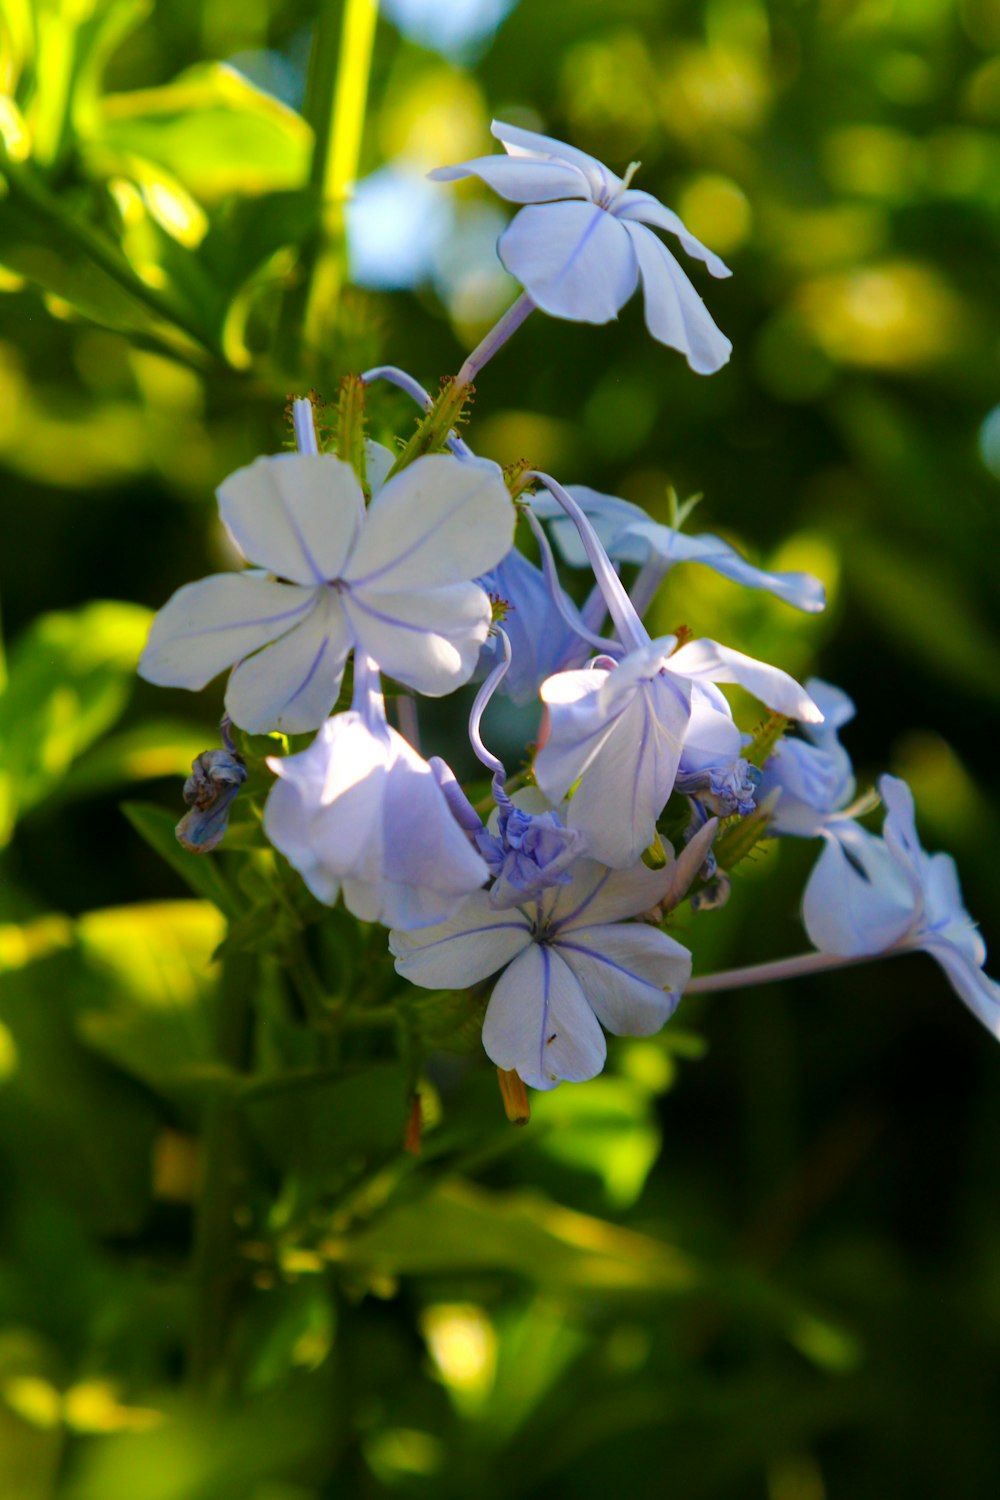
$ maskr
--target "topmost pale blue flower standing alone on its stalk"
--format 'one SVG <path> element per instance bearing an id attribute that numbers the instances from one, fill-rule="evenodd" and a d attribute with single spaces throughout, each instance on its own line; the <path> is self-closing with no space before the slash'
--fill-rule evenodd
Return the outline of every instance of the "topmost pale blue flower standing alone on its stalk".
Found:
<path id="1" fill-rule="evenodd" d="M 720 369 L 732 351 L 697 291 L 652 230 L 666 230 L 712 276 L 729 276 L 718 255 L 652 194 L 630 188 L 631 171 L 607 166 L 534 130 L 495 120 L 507 156 L 478 156 L 430 172 L 439 182 L 480 177 L 510 202 L 528 204 L 498 243 L 499 258 L 543 312 L 574 322 L 607 322 L 642 280 L 646 327 L 681 350 L 699 375 Z"/>

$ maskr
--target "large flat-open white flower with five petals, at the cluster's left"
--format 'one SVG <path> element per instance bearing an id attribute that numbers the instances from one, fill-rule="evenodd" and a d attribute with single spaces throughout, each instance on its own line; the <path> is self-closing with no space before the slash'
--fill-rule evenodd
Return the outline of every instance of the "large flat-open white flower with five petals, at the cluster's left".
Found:
<path id="1" fill-rule="evenodd" d="M 370 447 L 376 489 L 391 454 Z M 142 652 L 147 681 L 201 688 L 238 663 L 229 717 L 252 734 L 297 734 L 336 704 L 351 648 L 430 696 L 472 675 L 490 624 L 472 579 L 499 562 L 514 528 L 495 464 L 417 459 L 367 512 L 354 471 L 330 453 L 256 459 L 217 494 L 232 540 L 258 568 L 174 594 Z"/>

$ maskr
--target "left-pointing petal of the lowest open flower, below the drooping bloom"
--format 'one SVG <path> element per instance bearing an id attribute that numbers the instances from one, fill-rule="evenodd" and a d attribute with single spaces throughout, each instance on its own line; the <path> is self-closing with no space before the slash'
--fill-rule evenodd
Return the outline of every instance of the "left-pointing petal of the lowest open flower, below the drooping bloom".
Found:
<path id="1" fill-rule="evenodd" d="M 463 990 L 496 974 L 531 944 L 523 912 L 495 912 L 486 891 L 469 896 L 444 922 L 388 934 L 396 972 L 426 990 Z"/>

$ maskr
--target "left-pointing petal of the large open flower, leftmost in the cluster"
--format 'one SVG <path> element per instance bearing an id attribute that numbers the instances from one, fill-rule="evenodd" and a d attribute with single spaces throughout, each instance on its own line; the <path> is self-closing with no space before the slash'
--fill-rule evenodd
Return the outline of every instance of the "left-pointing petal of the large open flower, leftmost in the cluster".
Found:
<path id="1" fill-rule="evenodd" d="M 213 573 L 186 584 L 153 620 L 139 676 L 159 687 L 201 688 L 240 657 L 292 630 L 315 602 L 315 588 L 250 573 Z"/>

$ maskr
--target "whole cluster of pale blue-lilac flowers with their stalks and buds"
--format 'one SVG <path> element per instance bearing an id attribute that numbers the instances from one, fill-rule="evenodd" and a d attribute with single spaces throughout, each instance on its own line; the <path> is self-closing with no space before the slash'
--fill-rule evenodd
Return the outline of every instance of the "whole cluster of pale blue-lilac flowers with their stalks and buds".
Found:
<path id="1" fill-rule="evenodd" d="M 694 370 L 717 370 L 730 350 L 652 230 L 673 234 L 709 273 L 726 267 L 630 186 L 633 168 L 619 178 L 558 141 L 493 129 L 505 156 L 435 176 L 475 176 L 523 206 L 499 242 L 522 298 L 438 404 L 402 370 L 361 376 L 390 380 L 426 408 L 421 441 L 399 453 L 360 432 L 319 452 L 312 406 L 297 400 L 297 452 L 261 458 L 219 488 L 249 566 L 178 590 L 139 670 L 201 688 L 231 669 L 226 722 L 250 735 L 315 732 L 307 748 L 267 758 L 267 838 L 321 903 L 342 900 L 385 924 L 396 968 L 414 984 L 492 981 L 484 1048 L 537 1089 L 594 1077 L 604 1030 L 657 1030 L 685 988 L 913 948 L 933 954 L 1000 1035 L 1000 987 L 982 974 L 951 860 L 921 849 L 907 788 L 882 778 L 882 837 L 858 820 L 874 802 L 850 806 L 855 777 L 838 740 L 853 714 L 847 696 L 822 681 L 799 686 L 733 645 L 652 638 L 643 624 L 681 562 L 805 612 L 823 609 L 822 584 L 765 572 L 720 537 L 654 522 L 586 486 L 538 471 L 505 477 L 450 426 L 442 402 L 462 404 L 471 374 L 534 308 L 604 322 L 642 282 L 649 330 Z M 516 538 L 537 548 L 540 566 Z M 582 604 L 556 554 L 564 567 L 589 568 Z M 394 684 L 399 728 L 382 678 Z M 469 742 L 492 776 L 492 812 L 418 746 L 418 696 L 474 678 Z M 720 684 L 771 711 L 759 736 L 744 732 Z M 520 789 L 481 732 L 498 692 L 541 704 L 534 784 Z M 199 758 L 186 848 L 219 843 L 243 780 L 232 741 Z M 691 956 L 664 924 L 681 902 L 711 910 L 726 897 L 724 850 L 739 846 L 741 828 L 745 848 L 763 834 L 822 840 L 804 897 L 816 951 L 693 981 Z"/>

